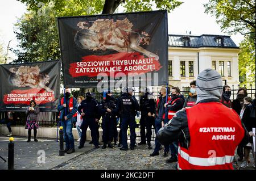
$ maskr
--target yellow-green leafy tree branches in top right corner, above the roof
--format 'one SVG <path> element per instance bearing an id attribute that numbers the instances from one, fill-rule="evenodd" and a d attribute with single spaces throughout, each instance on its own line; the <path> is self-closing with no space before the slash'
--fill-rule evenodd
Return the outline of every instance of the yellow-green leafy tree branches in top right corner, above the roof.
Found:
<path id="1" fill-rule="evenodd" d="M 255 33 L 255 0 L 209 0 L 204 7 L 206 13 L 216 17 L 222 31 Z"/>

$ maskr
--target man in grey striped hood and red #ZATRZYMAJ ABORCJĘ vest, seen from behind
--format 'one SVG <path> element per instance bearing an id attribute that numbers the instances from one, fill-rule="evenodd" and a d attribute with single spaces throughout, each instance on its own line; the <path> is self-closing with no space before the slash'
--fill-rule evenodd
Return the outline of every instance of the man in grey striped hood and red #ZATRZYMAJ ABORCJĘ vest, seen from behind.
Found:
<path id="1" fill-rule="evenodd" d="M 220 103 L 221 75 L 203 70 L 196 80 L 196 106 L 185 108 L 161 128 L 163 145 L 179 139 L 178 169 L 233 169 L 235 150 L 248 132 L 236 112 Z"/>

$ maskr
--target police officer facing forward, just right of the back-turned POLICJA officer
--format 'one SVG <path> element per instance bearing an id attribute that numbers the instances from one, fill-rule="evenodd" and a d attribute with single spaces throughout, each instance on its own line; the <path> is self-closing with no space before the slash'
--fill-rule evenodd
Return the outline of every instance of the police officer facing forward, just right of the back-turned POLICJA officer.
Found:
<path id="1" fill-rule="evenodd" d="M 152 125 L 154 124 L 155 116 L 155 100 L 151 99 L 152 95 L 150 94 L 148 88 L 145 90 L 145 94 L 141 96 L 139 100 L 139 109 L 141 110 L 141 142 L 138 145 L 147 145 L 148 149 L 151 148 L 151 135 L 152 135 Z M 145 127 L 147 129 L 147 135 L 145 133 Z"/>

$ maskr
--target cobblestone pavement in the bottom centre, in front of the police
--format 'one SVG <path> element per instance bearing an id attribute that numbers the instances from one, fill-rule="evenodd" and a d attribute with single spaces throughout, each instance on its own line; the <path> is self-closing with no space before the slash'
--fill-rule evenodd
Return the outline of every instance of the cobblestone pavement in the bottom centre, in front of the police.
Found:
<path id="1" fill-rule="evenodd" d="M 153 142 L 152 142 L 153 143 Z M 152 145 L 154 148 L 154 145 Z M 153 150 L 148 150 L 147 145 L 140 145 L 134 150 L 121 151 L 115 148 L 96 149 L 89 154 L 82 154 L 67 162 L 67 165 L 58 169 L 93 169 L 93 170 L 173 170 L 176 163 L 166 163 L 163 157 L 163 149 L 160 154 L 150 157 Z"/>

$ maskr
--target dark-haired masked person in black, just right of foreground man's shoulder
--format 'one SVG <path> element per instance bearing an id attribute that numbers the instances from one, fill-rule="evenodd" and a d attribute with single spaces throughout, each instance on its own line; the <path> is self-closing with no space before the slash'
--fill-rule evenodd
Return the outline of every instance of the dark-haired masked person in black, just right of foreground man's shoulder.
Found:
<path id="1" fill-rule="evenodd" d="M 243 98 L 245 98 L 246 96 L 247 96 L 247 91 L 245 88 L 241 87 L 240 89 L 238 89 L 237 99 L 234 99 L 232 102 L 232 109 L 236 111 L 238 115 L 240 115 L 240 112 L 243 107 Z M 243 148 L 241 145 L 238 145 L 237 154 L 239 156 L 238 161 L 242 161 L 244 154 L 243 154 Z"/>

